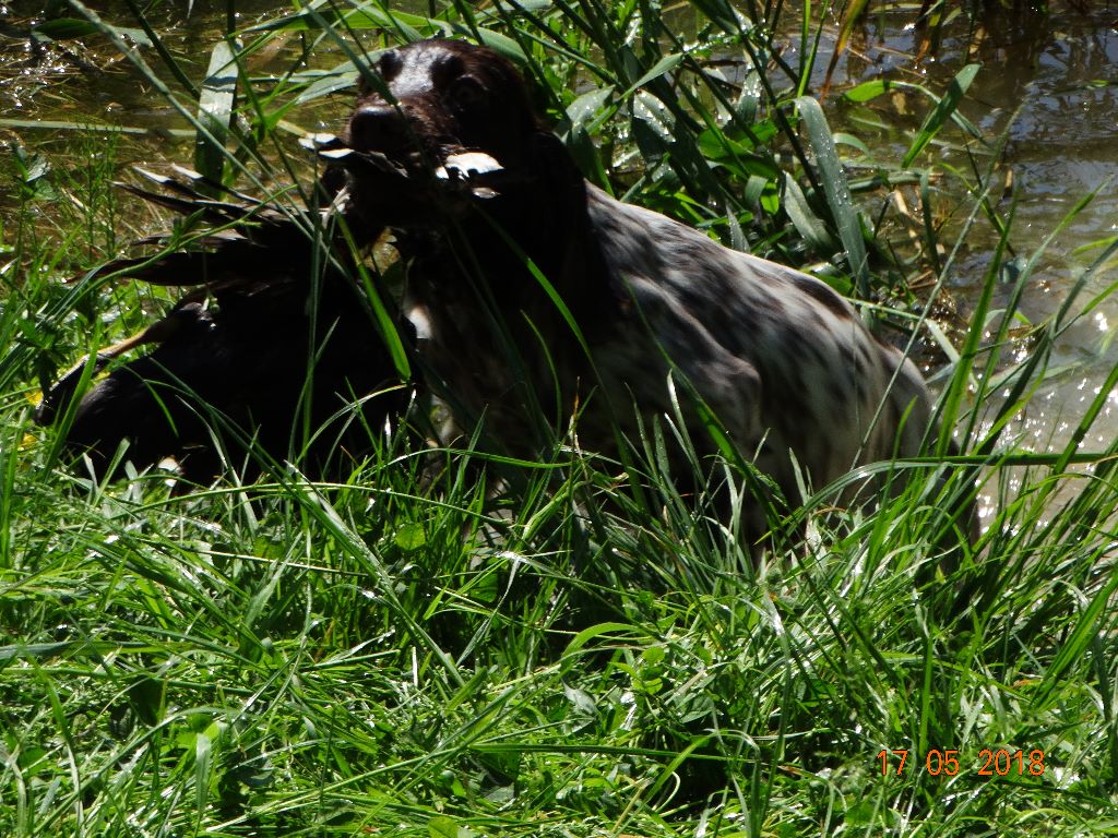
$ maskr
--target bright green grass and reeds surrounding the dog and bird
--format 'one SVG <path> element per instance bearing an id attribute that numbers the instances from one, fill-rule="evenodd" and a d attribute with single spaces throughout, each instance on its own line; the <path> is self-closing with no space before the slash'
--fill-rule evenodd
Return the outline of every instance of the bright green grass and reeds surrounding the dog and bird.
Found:
<path id="1" fill-rule="evenodd" d="M 104 169 L 63 177 L 23 150 L 8 164 L 19 199 L 0 266 L 0 835 L 1116 831 L 1118 444 L 1080 450 L 1077 435 L 1034 455 L 1008 430 L 1052 374 L 1053 342 L 1097 301 L 1069 299 L 1021 336 L 1044 242 L 1010 273 L 1013 201 L 988 196 L 1001 141 L 953 124 L 954 94 L 916 91 L 927 118 L 911 160 L 861 177 L 825 112 L 797 104 L 808 67 L 783 64 L 729 6 L 487 8 L 439 6 L 437 22 L 367 11 L 390 39 L 437 27 L 524 53 L 594 180 L 728 244 L 823 265 L 890 304 L 872 310 L 882 328 L 922 333 L 959 254 L 994 241 L 941 400 L 972 470 L 945 482 L 942 460 L 893 464 L 912 478 L 872 513 L 826 514 L 837 487 L 822 491 L 800 513 L 807 543 L 756 564 L 732 516 L 680 497 L 660 469 L 666 422 L 635 440 L 627 469 L 557 447 L 503 464 L 511 488 L 495 496 L 472 467 L 483 455 L 415 450 L 404 435 L 344 485 L 295 472 L 186 496 L 159 472 L 93 485 L 31 423 L 38 373 L 132 331 L 158 301 L 59 282 L 119 244 L 120 210 Z M 303 27 L 309 46 L 357 55 L 375 48 L 349 31 L 362 21 L 304 12 L 244 42 Z M 723 54 L 760 69 L 712 80 L 703 61 Z M 142 72 L 188 103 L 144 55 Z M 340 73 L 244 70 L 229 153 L 198 160 L 238 184 L 283 182 L 297 164 L 281 120 L 352 78 Z M 934 165 L 935 143 L 966 146 L 966 165 Z M 868 211 L 881 182 L 913 184 L 916 246 L 901 220 Z M 84 210 L 67 215 L 60 193 L 86 196 Z M 928 268 L 932 297 L 909 294 Z M 724 473 L 750 496 L 748 470 Z M 941 511 L 975 475 L 988 530 L 953 568 Z M 899 750 L 903 772 L 887 755 L 882 775 L 879 754 Z M 985 750 L 1022 751 L 1024 772 L 980 775 Z M 934 774 L 947 751 L 958 771 Z"/>

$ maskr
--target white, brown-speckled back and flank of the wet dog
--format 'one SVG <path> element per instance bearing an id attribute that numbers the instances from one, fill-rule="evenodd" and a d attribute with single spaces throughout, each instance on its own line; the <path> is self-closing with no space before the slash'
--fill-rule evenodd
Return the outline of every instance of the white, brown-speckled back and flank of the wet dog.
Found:
<path id="1" fill-rule="evenodd" d="M 931 399 L 919 371 L 826 284 L 598 189 L 588 198 L 628 301 L 628 322 L 597 347 L 604 388 L 671 412 L 674 369 L 786 493 L 796 485 L 789 450 L 816 487 L 855 465 L 920 453 Z"/>

